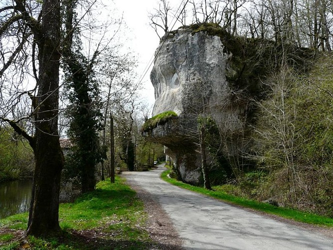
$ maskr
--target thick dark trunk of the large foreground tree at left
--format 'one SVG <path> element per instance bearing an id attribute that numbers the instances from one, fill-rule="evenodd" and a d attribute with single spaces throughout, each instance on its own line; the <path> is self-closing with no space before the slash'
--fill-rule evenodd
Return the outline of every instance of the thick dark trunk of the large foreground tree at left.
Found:
<path id="1" fill-rule="evenodd" d="M 35 171 L 27 235 L 52 235 L 59 226 L 60 174 L 64 158 L 58 135 L 60 4 L 44 0 L 39 52 L 36 109 Z M 52 11 L 50 11 L 52 10 Z"/>

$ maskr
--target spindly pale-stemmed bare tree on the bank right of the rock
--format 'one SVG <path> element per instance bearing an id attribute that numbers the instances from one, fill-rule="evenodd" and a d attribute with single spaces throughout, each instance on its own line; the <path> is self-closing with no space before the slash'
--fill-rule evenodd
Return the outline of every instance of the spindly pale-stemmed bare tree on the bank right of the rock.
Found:
<path id="1" fill-rule="evenodd" d="M 290 192 L 292 199 L 296 201 L 297 184 L 299 183 L 299 172 L 295 162 L 295 144 L 298 137 L 295 129 L 297 117 L 296 102 L 292 92 L 295 90 L 293 71 L 284 65 L 280 72 L 273 74 L 266 83 L 272 91 L 270 97 L 258 102 L 260 106 L 260 124 L 255 131 L 257 133 L 257 145 L 261 150 L 266 150 L 265 156 L 259 154 L 260 160 L 267 163 L 269 171 L 272 172 L 279 167 L 286 167 L 290 177 Z M 289 104 L 287 105 L 287 101 Z M 292 107 L 291 104 L 292 103 Z"/>

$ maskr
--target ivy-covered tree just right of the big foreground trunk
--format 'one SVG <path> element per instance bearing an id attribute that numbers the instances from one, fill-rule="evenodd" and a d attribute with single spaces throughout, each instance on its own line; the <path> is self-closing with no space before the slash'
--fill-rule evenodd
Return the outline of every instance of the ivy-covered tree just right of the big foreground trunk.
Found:
<path id="1" fill-rule="evenodd" d="M 72 140 L 73 157 L 76 159 L 81 177 L 82 192 L 92 191 L 96 185 L 96 164 L 105 158 L 99 144 L 98 131 L 102 124 L 100 104 L 98 103 L 98 86 L 94 80 L 93 65 L 98 52 L 87 58 L 81 51 L 79 30 L 73 25 L 77 0 L 66 2 L 66 33 L 63 55 L 65 74 L 68 77 L 68 99 L 71 102 L 70 127 L 68 134 Z"/>

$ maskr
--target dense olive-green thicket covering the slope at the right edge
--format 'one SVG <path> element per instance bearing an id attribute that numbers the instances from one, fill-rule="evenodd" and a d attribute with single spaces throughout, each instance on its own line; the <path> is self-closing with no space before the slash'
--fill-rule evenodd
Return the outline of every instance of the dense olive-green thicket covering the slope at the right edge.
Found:
<path id="1" fill-rule="evenodd" d="M 257 167 L 272 178 L 258 182 L 257 199 L 276 197 L 286 206 L 333 217 L 332 58 L 325 53 L 308 74 L 288 71 L 272 81 L 256 124 Z"/>

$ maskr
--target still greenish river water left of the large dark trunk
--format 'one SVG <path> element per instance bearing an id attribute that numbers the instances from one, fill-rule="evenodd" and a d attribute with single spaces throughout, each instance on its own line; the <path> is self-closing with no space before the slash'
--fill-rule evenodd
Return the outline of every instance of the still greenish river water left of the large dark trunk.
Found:
<path id="1" fill-rule="evenodd" d="M 0 218 L 27 211 L 31 188 L 31 179 L 0 183 Z"/>

